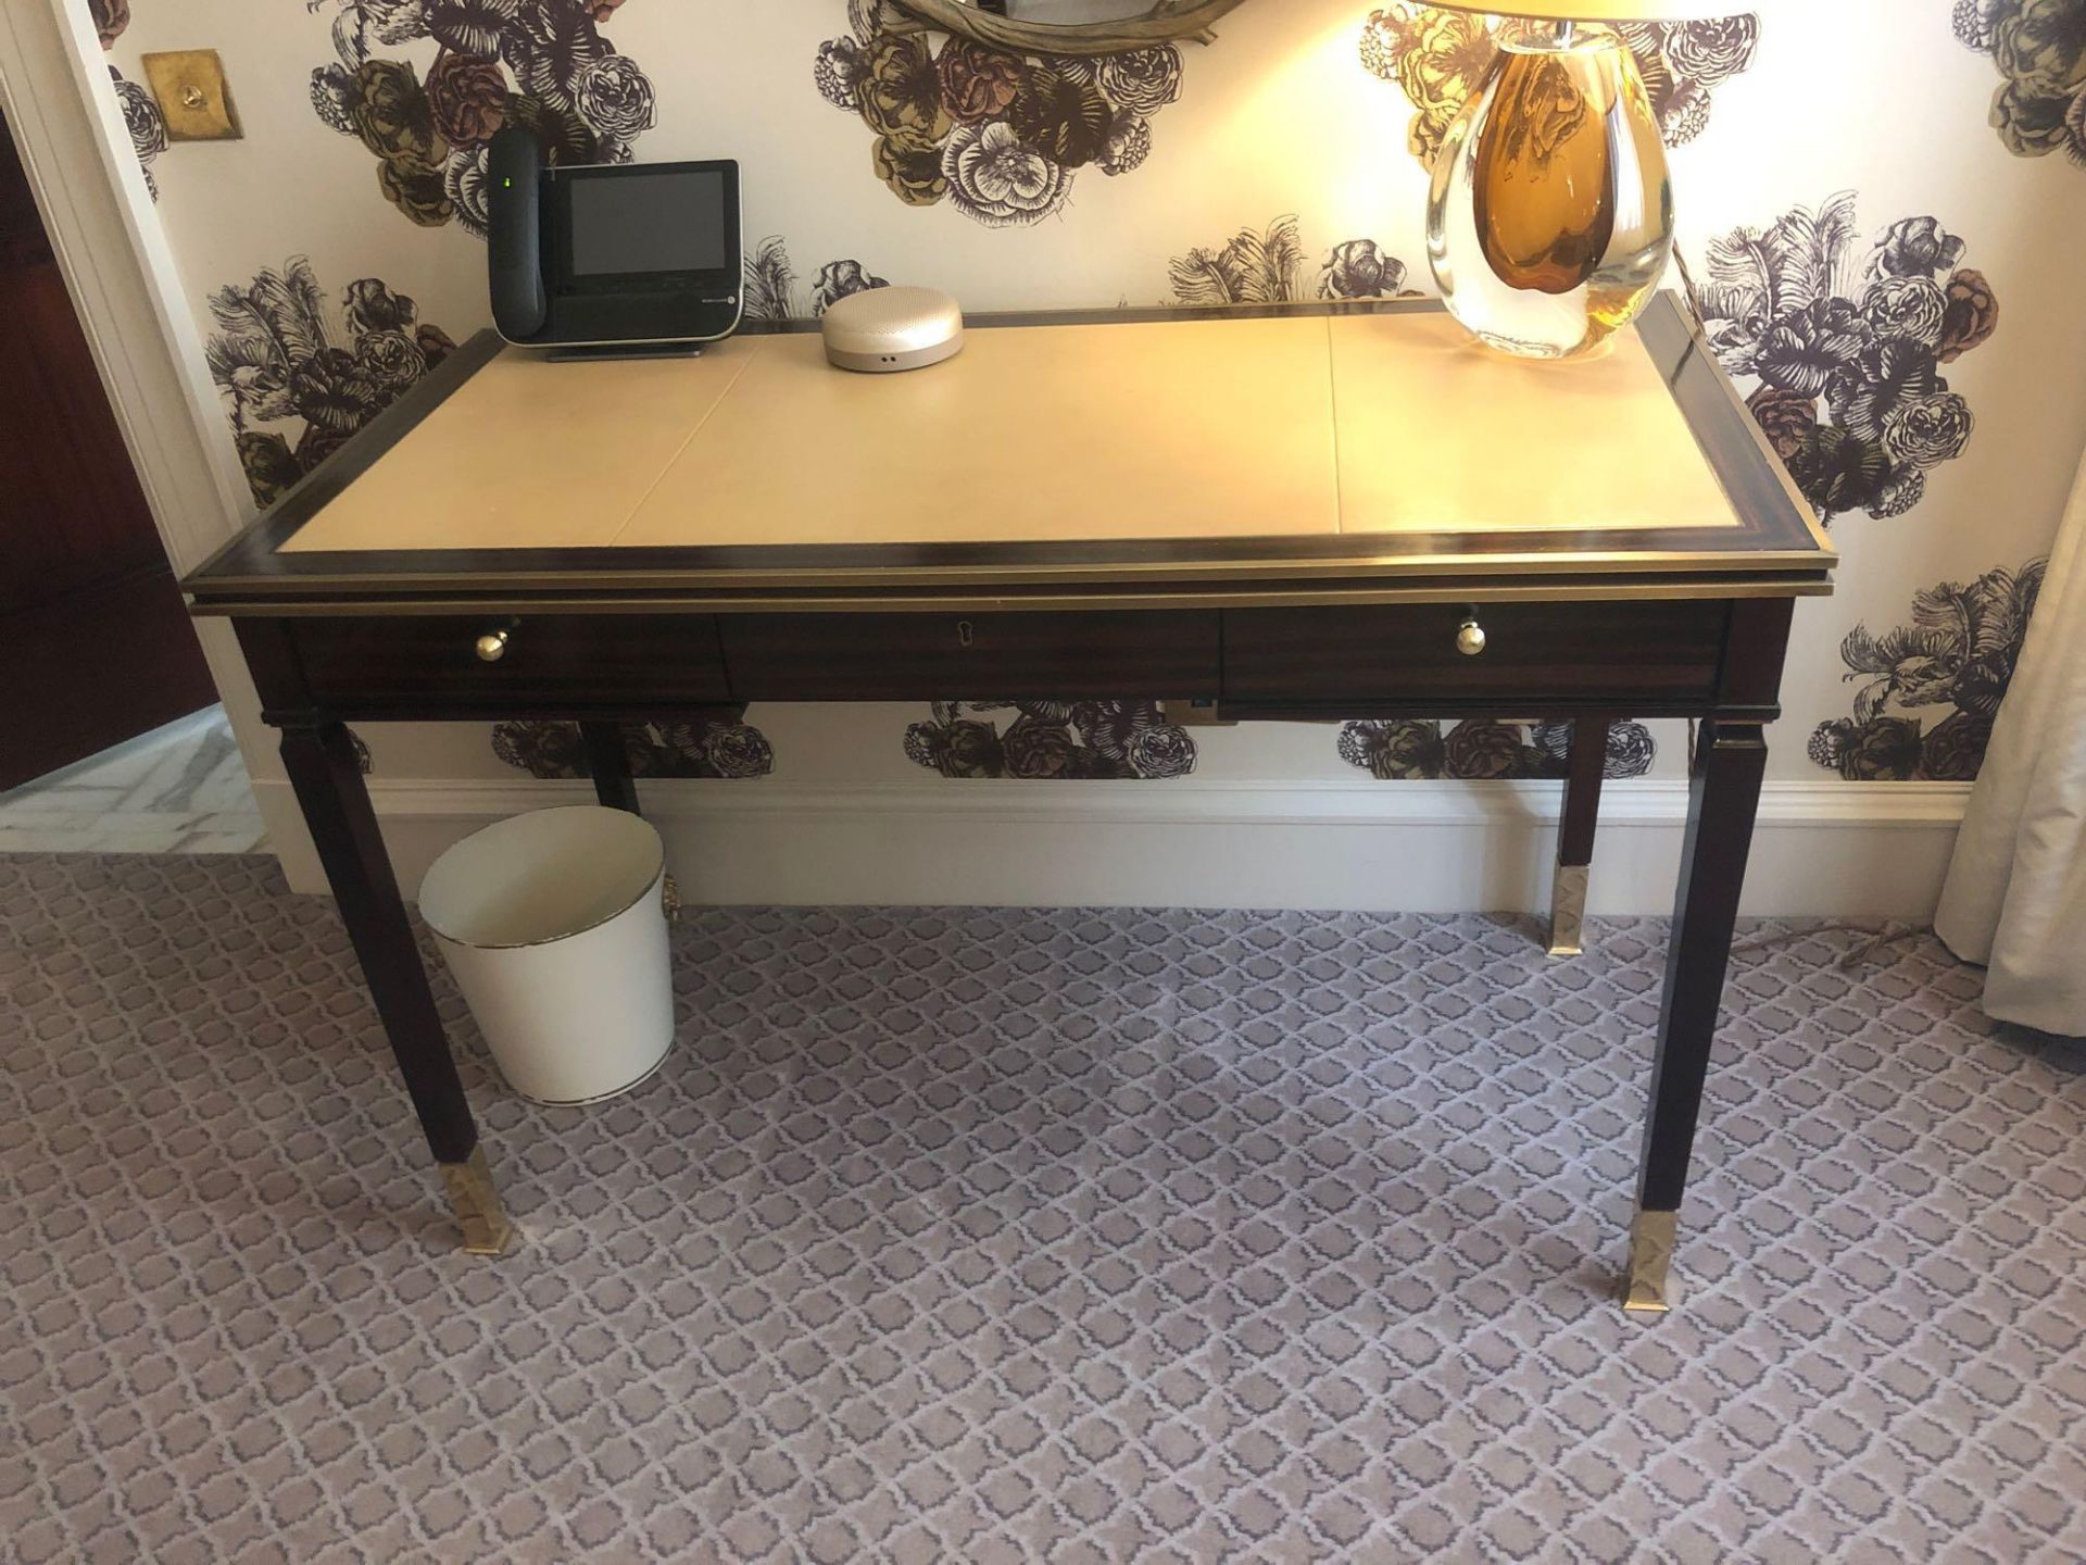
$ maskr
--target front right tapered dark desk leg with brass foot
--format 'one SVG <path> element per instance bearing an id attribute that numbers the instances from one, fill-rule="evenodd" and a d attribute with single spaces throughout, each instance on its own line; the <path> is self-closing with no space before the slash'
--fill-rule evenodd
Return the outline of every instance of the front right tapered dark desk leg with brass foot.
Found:
<path id="1" fill-rule="evenodd" d="M 1652 1066 L 1638 1219 L 1629 1231 L 1623 1306 L 1631 1310 L 1665 1310 L 1673 1304 L 1671 1262 L 1681 1194 L 1688 1187 L 1696 1121 L 1702 1116 L 1702 1085 L 1723 1008 L 1738 893 L 1746 883 L 1765 772 L 1767 743 L 1761 724 L 1702 724 L 1688 793 L 1681 887 L 1667 949 L 1667 993 Z"/>

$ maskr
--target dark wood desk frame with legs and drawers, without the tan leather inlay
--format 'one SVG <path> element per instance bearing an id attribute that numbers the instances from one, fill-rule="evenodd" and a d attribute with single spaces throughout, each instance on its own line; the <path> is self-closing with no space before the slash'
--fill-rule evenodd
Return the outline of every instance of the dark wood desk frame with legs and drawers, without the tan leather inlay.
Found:
<path id="1" fill-rule="evenodd" d="M 1368 313 L 1435 305 L 1329 305 Z M 1264 315 L 1277 311 L 1233 311 Z M 1208 317 L 1210 313 L 1197 313 Z M 1110 311 L 1001 326 L 1185 319 Z M 801 328 L 774 328 L 801 330 Z M 1089 545 L 282 553 L 501 344 L 482 334 L 186 588 L 232 616 L 267 722 L 471 1250 L 513 1229 L 346 722 L 572 718 L 601 801 L 636 810 L 617 724 L 747 701 L 1168 697 L 1227 718 L 1573 720 L 1552 945 L 1577 949 L 1604 741 L 1694 718 L 1694 785 L 1650 1085 L 1627 1302 L 1667 1269 L 1796 597 L 1836 563 L 1671 296 L 1642 321 L 1738 528 Z M 1510 459 L 1510 453 L 1502 453 Z M 1531 482 L 1539 474 L 1531 474 Z M 1621 480 L 1619 480 L 1621 482 Z M 1477 618 L 1489 645 L 1456 647 Z M 501 661 L 474 649 L 511 632 Z"/>

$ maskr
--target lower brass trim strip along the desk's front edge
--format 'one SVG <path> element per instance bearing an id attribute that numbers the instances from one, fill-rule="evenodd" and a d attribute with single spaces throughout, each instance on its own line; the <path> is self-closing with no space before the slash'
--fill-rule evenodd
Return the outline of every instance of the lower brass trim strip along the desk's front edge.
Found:
<path id="1" fill-rule="evenodd" d="M 1829 580 L 1742 580 L 1742 582 L 1648 582 L 1644 586 L 1562 584 L 1471 584 L 1383 586 L 1352 593 L 1297 588 L 1291 593 L 1049 593 L 997 597 L 993 593 L 878 593 L 789 597 L 705 597 L 663 593 L 659 597 L 530 597 L 496 593 L 488 597 L 290 597 L 290 599 L 200 599 L 190 603 L 198 620 L 338 620 L 338 618 L 428 618 L 469 613 L 1041 613 L 1068 609 L 1327 609 L 1375 603 L 1673 603 L 1775 597 L 1832 597 Z"/>

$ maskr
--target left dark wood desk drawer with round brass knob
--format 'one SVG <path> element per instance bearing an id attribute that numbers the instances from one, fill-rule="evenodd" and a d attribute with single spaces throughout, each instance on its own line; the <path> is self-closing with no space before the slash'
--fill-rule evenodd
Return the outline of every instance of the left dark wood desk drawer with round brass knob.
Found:
<path id="1" fill-rule="evenodd" d="M 496 661 L 478 639 L 507 630 Z M 423 716 L 547 716 L 615 703 L 659 712 L 730 701 L 707 613 L 300 620 L 292 630 L 311 695 L 342 712 L 411 703 Z"/>

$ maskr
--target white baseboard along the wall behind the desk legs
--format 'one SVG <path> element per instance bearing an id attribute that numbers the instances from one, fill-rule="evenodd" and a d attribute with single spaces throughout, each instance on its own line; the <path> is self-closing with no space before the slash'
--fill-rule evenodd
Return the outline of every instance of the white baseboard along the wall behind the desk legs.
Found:
<path id="1" fill-rule="evenodd" d="M 261 793 L 284 782 L 261 782 Z M 436 853 L 586 782 L 373 780 L 407 893 Z M 1542 912 L 1556 782 L 649 782 L 688 901 Z M 1769 782 L 1746 912 L 1925 920 L 1967 785 Z M 290 805 L 263 799 L 263 808 Z M 1610 782 L 1594 914 L 1667 914 L 1688 785 Z M 284 856 L 323 891 L 317 862 Z"/>

